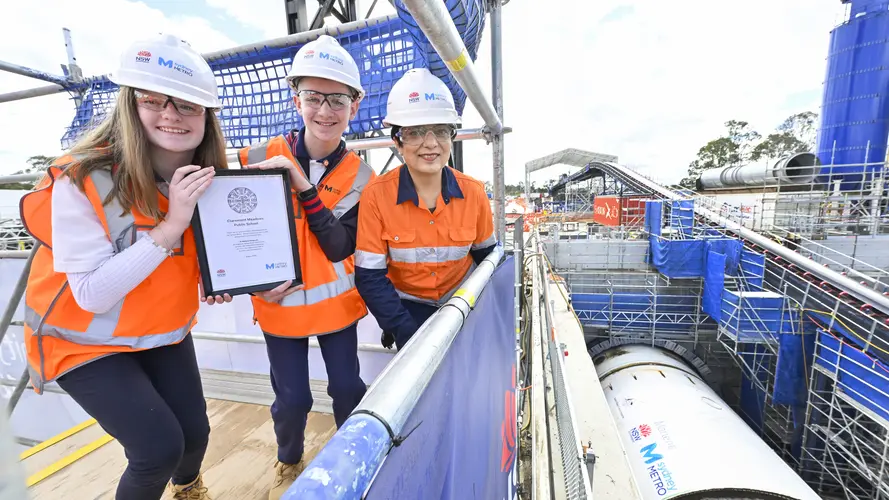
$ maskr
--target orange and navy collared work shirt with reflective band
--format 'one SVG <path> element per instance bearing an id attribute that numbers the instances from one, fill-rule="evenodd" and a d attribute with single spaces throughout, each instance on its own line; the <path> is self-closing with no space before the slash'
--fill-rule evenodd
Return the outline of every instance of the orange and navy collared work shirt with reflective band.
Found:
<path id="1" fill-rule="evenodd" d="M 399 299 L 444 304 L 495 244 L 491 205 L 481 182 L 445 167 L 441 194 L 430 210 L 402 165 L 371 181 L 362 193 L 356 286 L 383 330 L 415 328 Z"/>

